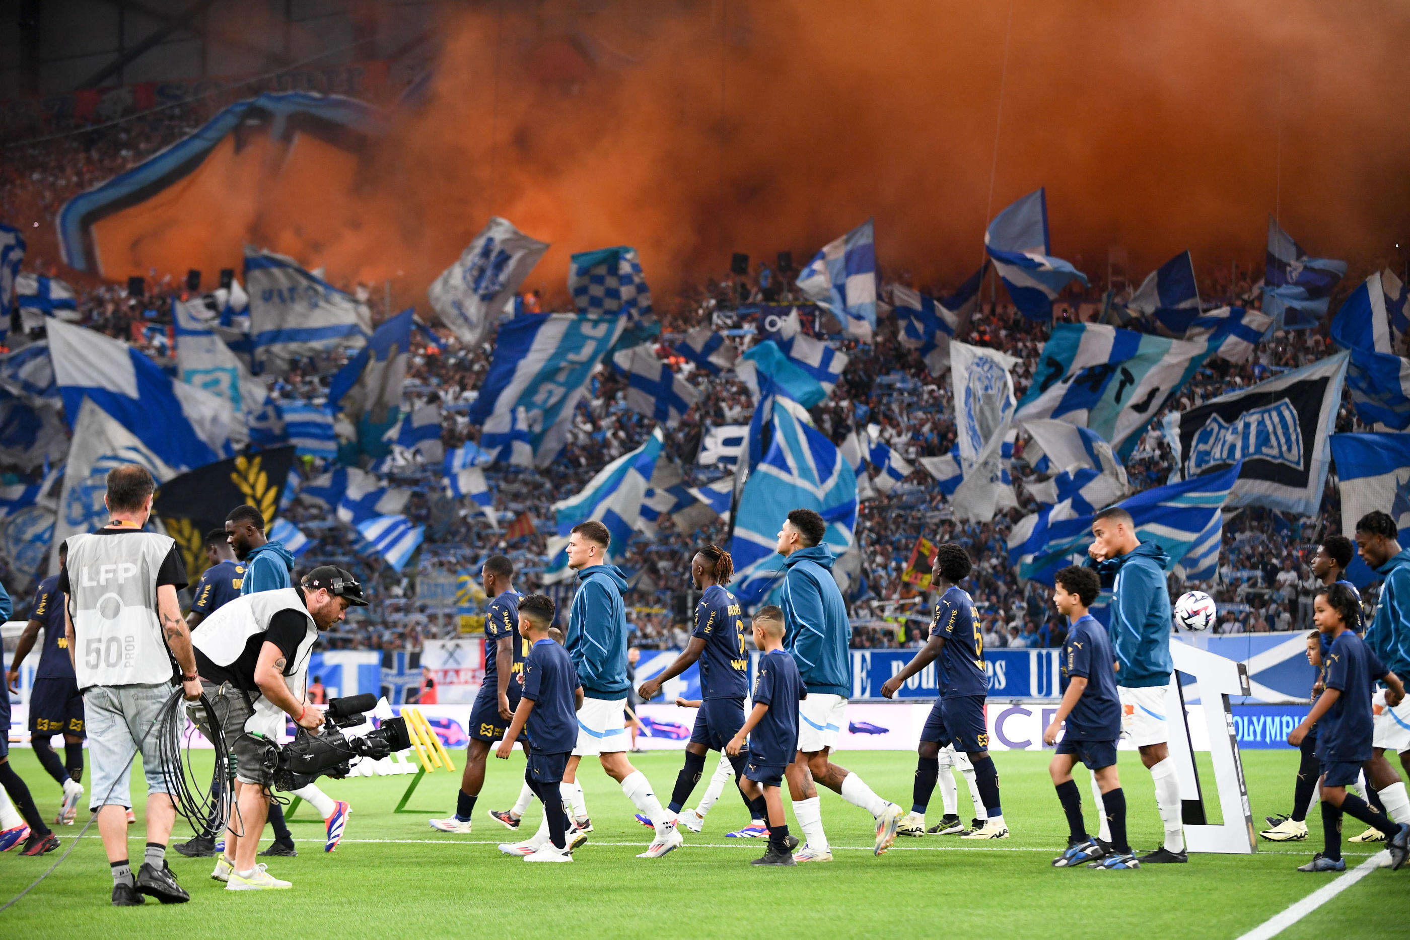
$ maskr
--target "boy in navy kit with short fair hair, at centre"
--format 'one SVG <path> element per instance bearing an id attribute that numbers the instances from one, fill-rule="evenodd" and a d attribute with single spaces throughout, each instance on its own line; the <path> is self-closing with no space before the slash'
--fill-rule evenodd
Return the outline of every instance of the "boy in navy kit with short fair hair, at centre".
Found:
<path id="1" fill-rule="evenodd" d="M 752 865 L 797 865 L 780 786 L 784 768 L 798 753 L 798 703 L 808 698 L 798 664 L 784 650 L 784 612 L 773 605 L 754 614 L 754 645 L 764 651 L 754 679 L 754 710 L 744 719 L 725 753 L 740 755 L 749 738 L 749 760 L 739 788 L 752 800 L 763 799 L 768 813 L 768 848 Z"/>

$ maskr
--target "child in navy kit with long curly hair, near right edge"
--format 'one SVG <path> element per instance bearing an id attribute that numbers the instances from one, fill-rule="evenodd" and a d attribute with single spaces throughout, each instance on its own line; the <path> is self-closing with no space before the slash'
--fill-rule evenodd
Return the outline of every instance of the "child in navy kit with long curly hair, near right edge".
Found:
<path id="1" fill-rule="evenodd" d="M 1400 678 L 1386 669 L 1376 654 L 1351 630 L 1358 614 L 1359 605 L 1344 585 L 1320 588 L 1313 596 L 1313 621 L 1323 636 L 1331 640 L 1323 679 L 1325 689 L 1303 723 L 1287 736 L 1287 743 L 1299 747 L 1311 727 L 1317 726 L 1325 841 L 1323 851 L 1313 855 L 1306 865 L 1299 865 L 1297 871 L 1347 870 L 1347 862 L 1341 857 L 1344 813 L 1386 834 L 1392 868 L 1400 868 L 1406 862 L 1410 824 L 1390 822 L 1359 796 L 1347 792 L 1347 785 L 1356 782 L 1362 765 L 1371 761 L 1375 753 L 1372 747 L 1375 717 L 1371 707 L 1375 684 L 1385 684 L 1386 703 L 1392 707 L 1400 705 L 1404 698 Z"/>

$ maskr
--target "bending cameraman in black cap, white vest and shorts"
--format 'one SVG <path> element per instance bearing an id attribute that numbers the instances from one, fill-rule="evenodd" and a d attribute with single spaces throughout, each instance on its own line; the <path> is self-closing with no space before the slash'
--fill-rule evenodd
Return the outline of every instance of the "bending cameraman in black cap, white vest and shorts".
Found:
<path id="1" fill-rule="evenodd" d="M 269 812 L 271 779 L 265 744 L 278 741 L 285 716 L 317 734 L 323 713 L 305 700 L 309 654 L 319 637 L 343 619 L 348 606 L 367 606 L 362 586 L 333 565 L 314 568 L 299 588 L 244 595 L 216 610 L 192 633 L 202 688 L 235 754 L 235 802 L 226 851 L 212 878 L 227 891 L 289 888 L 255 865 L 255 850 Z M 193 716 L 196 720 L 197 716 Z M 202 712 L 197 727 L 213 738 Z"/>

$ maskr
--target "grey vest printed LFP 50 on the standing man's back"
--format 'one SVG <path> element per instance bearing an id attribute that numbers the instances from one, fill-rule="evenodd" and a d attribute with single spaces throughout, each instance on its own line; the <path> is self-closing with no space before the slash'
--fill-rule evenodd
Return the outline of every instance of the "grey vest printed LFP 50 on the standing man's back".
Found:
<path id="1" fill-rule="evenodd" d="M 172 679 L 157 613 L 157 574 L 176 543 L 133 530 L 68 540 L 73 672 L 92 685 L 158 685 Z"/>

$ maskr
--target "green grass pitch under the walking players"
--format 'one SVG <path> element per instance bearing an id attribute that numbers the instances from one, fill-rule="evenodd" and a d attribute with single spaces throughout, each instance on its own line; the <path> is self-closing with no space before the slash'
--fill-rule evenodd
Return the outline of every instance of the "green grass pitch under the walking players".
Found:
<path id="1" fill-rule="evenodd" d="M 453 753 L 457 765 L 464 753 Z M 11 760 L 30 782 L 41 809 L 56 809 L 58 786 L 28 748 Z M 321 851 L 321 823 L 300 806 L 292 823 L 298 858 L 272 860 L 271 870 L 293 881 L 286 892 L 224 892 L 207 878 L 210 860 L 171 853 L 171 864 L 192 893 L 189 906 L 109 906 L 111 881 L 92 827 L 73 854 L 28 896 L 0 913 L 0 936 L 24 937 L 1238 937 L 1293 902 L 1328 884 L 1294 867 L 1318 847 L 1261 843 L 1256 855 L 1196 855 L 1187 865 L 1146 867 L 1111 874 L 1049 867 L 1066 839 L 1066 823 L 1048 779 L 1046 754 L 995 753 L 1012 837 L 1001 843 L 929 836 L 905 839 L 881 858 L 870 851 L 870 817 L 823 792 L 823 822 L 836 861 L 792 870 L 757 870 L 749 860 L 761 841 L 726 844 L 723 833 L 743 824 L 739 798 L 726 792 L 699 836 L 657 861 L 639 860 L 649 833 L 632 819 L 620 789 L 584 765 L 588 809 L 596 827 L 571 865 L 526 865 L 502 855 L 509 837 L 485 816 L 519 792 L 523 758 L 491 758 L 475 831 L 451 837 L 426 824 L 454 805 L 458 774 L 429 775 L 410 808 L 392 813 L 409 778 L 323 781 L 352 805 L 347 837 Z M 633 755 L 657 792 L 668 793 L 678 753 Z M 1292 800 L 1294 751 L 1244 754 L 1253 817 L 1283 812 Z M 838 762 L 857 771 L 880 793 L 909 803 L 914 755 L 843 753 Z M 713 758 L 706 774 L 713 771 Z M 1138 848 L 1160 837 L 1151 777 L 1134 754 L 1121 755 Z M 134 791 L 140 791 L 140 775 Z M 1213 777 L 1206 777 L 1213 779 Z M 1083 796 L 1089 798 L 1086 781 Z M 695 796 L 704 792 L 705 781 Z M 141 802 L 141 800 L 138 800 Z M 969 816 L 962 785 L 960 808 Z M 938 819 L 939 799 L 931 817 Z M 1090 813 L 1089 813 L 1090 817 Z M 309 822 L 302 822 L 309 820 Z M 539 809 L 529 813 L 537 824 Z M 792 820 L 790 819 L 792 824 Z M 1316 812 L 1308 820 L 1320 843 Z M 1351 829 L 1351 827 L 1348 827 Z M 1358 827 L 1359 829 L 1359 827 Z M 61 833 L 63 848 L 78 829 Z M 797 830 L 795 830 L 797 831 Z M 179 837 L 185 824 L 178 823 Z M 1351 834 L 1351 833 L 1348 833 Z M 367 841 L 364 841 L 367 840 Z M 133 857 L 141 857 L 141 812 L 133 829 Z M 1358 848 L 1351 847 L 1348 848 Z M 1266 850 L 1266 851 L 1265 851 Z M 62 851 L 62 850 L 61 850 Z M 1348 851 L 1349 865 L 1369 853 Z M 44 858 L 0 855 L 0 903 L 30 884 L 58 853 Z M 1410 920 L 1410 872 L 1376 871 L 1296 924 L 1287 937 L 1404 937 Z"/>

